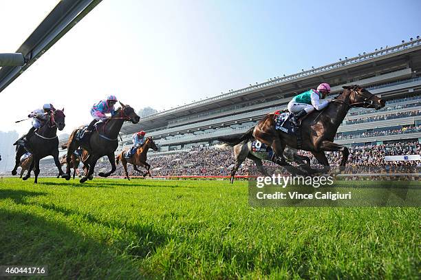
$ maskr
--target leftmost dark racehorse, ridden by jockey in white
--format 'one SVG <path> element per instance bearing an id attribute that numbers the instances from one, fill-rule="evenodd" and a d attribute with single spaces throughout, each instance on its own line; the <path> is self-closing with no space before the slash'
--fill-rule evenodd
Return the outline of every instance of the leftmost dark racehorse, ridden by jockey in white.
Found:
<path id="1" fill-rule="evenodd" d="M 27 149 L 32 153 L 34 160 L 28 170 L 28 173 L 23 177 L 23 180 L 28 180 L 31 176 L 31 171 L 35 166 L 34 174 L 35 180 L 34 183 L 38 182 L 39 175 L 39 161 L 42 158 L 45 158 L 47 155 L 52 155 L 54 158 L 54 163 L 57 166 L 58 174 L 61 177 L 66 177 L 65 173 L 61 170 L 61 165 L 58 160 L 58 137 L 57 129 L 62 131 L 65 127 L 65 114 L 63 113 L 64 109 L 56 110 L 50 113 L 50 116 L 47 121 L 44 122 L 43 126 L 36 130 L 34 135 L 27 140 L 25 147 L 21 144 L 16 146 L 16 158 L 14 163 L 14 169 L 12 170 L 12 175 L 17 174 L 17 168 L 21 162 L 21 156 L 25 153 Z M 66 177 L 67 179 L 67 177 Z"/>

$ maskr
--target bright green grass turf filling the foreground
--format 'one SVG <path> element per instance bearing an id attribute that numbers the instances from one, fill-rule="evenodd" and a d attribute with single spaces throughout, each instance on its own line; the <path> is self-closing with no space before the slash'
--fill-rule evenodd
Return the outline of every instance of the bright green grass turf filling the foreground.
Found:
<path id="1" fill-rule="evenodd" d="M 1 178 L 0 265 L 47 265 L 54 279 L 420 277 L 420 208 L 251 208 L 247 192 Z"/>

